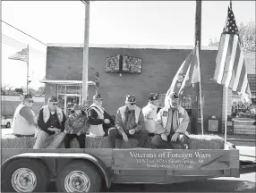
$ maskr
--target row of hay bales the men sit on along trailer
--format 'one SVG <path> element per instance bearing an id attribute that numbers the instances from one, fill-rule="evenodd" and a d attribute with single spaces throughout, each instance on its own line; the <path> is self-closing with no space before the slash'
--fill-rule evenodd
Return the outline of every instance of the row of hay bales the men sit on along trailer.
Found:
<path id="1" fill-rule="evenodd" d="M 223 149 L 224 138 L 217 135 L 189 135 L 189 147 L 191 149 Z M 149 138 L 147 148 L 154 148 L 151 145 L 151 139 Z M 5 134 L 1 139 L 2 148 L 32 148 L 35 143 L 33 137 L 16 137 L 13 134 Z M 116 139 L 117 148 L 133 148 L 138 145 L 138 140 L 135 138 L 129 138 L 129 142 L 125 143 L 124 140 Z M 108 137 L 96 137 L 92 138 L 87 136 L 85 139 L 86 148 L 109 148 Z M 71 142 L 72 148 L 79 148 L 78 141 L 74 138 Z M 59 148 L 64 148 L 64 143 Z M 174 144 L 174 149 L 181 148 L 179 145 Z"/>

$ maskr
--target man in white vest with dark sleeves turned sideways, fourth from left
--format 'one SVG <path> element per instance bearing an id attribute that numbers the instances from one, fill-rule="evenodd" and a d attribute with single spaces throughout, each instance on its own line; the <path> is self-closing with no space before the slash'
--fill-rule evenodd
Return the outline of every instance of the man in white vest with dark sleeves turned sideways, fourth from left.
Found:
<path id="1" fill-rule="evenodd" d="M 107 136 L 108 130 L 115 127 L 114 119 L 101 106 L 100 94 L 93 96 L 93 104 L 88 108 L 88 119 L 90 123 L 90 136 Z"/>

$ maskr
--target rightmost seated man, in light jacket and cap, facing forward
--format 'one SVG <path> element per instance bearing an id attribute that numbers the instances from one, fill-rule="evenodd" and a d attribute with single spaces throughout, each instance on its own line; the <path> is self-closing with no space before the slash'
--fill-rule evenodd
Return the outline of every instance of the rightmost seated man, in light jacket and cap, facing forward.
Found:
<path id="1" fill-rule="evenodd" d="M 177 142 L 183 149 L 188 149 L 187 127 L 189 115 L 180 105 L 179 96 L 173 93 L 168 98 L 168 106 L 158 113 L 156 135 L 152 138 L 152 145 L 157 148 L 173 148 L 172 142 Z"/>

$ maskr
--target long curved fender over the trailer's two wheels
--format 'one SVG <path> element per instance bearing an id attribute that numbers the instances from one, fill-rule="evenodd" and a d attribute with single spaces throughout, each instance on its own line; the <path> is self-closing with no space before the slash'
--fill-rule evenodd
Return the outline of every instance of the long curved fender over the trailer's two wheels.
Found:
<path id="1" fill-rule="evenodd" d="M 13 157 L 7 159 L 1 166 L 2 173 L 8 164 L 13 162 L 13 160 L 20 159 L 20 158 L 32 158 L 32 159 L 44 159 L 44 158 L 73 158 L 73 159 L 81 159 L 84 161 L 89 161 L 90 163 L 94 164 L 99 172 L 101 172 L 106 180 L 107 189 L 110 188 L 111 185 L 111 175 L 107 171 L 107 166 L 98 159 L 95 155 L 90 154 L 82 154 L 82 153 L 23 153 L 20 155 L 14 155 Z"/>

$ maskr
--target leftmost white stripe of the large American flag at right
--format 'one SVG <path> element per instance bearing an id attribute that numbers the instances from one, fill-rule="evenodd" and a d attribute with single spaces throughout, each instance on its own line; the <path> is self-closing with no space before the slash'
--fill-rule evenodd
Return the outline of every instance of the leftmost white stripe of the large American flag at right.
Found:
<path id="1" fill-rule="evenodd" d="M 219 56 L 218 56 L 218 66 L 219 66 L 219 72 L 218 72 L 218 79 L 217 82 L 221 84 L 223 72 L 224 72 L 224 67 L 225 67 L 225 62 L 226 62 L 226 53 L 227 53 L 227 48 L 228 48 L 228 42 L 230 35 L 229 34 L 224 34 L 222 35 L 223 38 L 223 46 L 220 47 L 219 50 Z"/>

